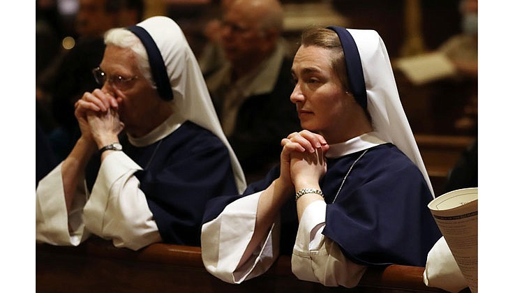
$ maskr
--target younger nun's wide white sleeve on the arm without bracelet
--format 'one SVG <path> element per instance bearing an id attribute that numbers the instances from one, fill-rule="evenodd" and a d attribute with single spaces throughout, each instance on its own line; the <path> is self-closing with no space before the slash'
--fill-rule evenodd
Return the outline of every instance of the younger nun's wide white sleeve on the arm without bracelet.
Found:
<path id="1" fill-rule="evenodd" d="M 266 272 L 278 257 L 278 220 L 267 239 L 253 255 L 239 266 L 241 257 L 254 233 L 260 193 L 242 197 L 228 204 L 214 220 L 202 226 L 202 260 L 209 273 L 227 283 L 241 283 Z"/>

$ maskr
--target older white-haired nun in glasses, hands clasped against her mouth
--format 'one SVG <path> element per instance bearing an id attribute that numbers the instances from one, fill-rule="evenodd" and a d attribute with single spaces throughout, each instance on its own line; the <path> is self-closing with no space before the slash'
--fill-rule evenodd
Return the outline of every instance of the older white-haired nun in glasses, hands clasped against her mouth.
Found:
<path id="1" fill-rule="evenodd" d="M 246 184 L 193 52 L 167 17 L 112 29 L 105 44 L 102 88 L 75 105 L 82 136 L 36 189 L 36 239 L 199 246 L 207 200 Z"/>

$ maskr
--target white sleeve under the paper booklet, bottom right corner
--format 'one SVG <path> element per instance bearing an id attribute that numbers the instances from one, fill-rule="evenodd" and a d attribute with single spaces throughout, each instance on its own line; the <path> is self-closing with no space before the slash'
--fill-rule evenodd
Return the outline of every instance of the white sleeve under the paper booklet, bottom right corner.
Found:
<path id="1" fill-rule="evenodd" d="M 442 236 L 428 252 L 424 283 L 428 287 L 437 287 L 449 292 L 459 292 L 468 287 L 468 281 L 462 275 L 454 255 L 451 254 Z"/>

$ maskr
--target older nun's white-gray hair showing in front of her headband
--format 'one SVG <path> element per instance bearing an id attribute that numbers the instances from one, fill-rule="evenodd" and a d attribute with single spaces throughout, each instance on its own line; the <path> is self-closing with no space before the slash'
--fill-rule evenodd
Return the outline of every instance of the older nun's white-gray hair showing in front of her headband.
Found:
<path id="1" fill-rule="evenodd" d="M 156 88 L 155 82 L 151 77 L 147 50 L 133 32 L 124 28 L 110 29 L 104 35 L 104 43 L 132 50 L 137 57 L 137 68 L 140 69 L 143 77 L 151 83 L 152 87 Z"/>

